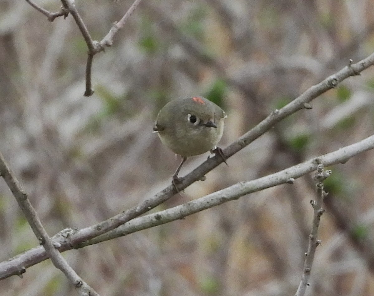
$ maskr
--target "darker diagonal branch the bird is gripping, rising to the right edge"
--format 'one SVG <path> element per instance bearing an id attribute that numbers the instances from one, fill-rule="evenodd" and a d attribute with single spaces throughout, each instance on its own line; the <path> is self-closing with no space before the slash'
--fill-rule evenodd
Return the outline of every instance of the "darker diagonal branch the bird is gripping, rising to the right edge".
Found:
<path id="1" fill-rule="evenodd" d="M 330 77 L 323 80 L 321 83 L 316 84 L 315 86 L 310 87 L 306 92 L 300 95 L 294 101 L 287 104 L 285 107 L 274 110 L 268 117 L 261 121 L 257 126 L 253 127 L 231 145 L 226 147 L 223 150 L 226 158 L 231 157 L 236 152 L 240 151 L 255 139 L 266 133 L 270 128 L 275 126 L 279 121 L 288 117 L 289 115 L 302 110 L 311 108 L 308 104 L 313 99 L 317 98 L 322 93 L 326 92 L 329 89 L 335 87 L 338 83 L 346 79 L 347 77 L 358 75 L 361 71 L 370 67 L 374 64 L 374 53 L 368 56 L 367 58 L 359 61 L 356 64 L 351 64 L 344 67 L 342 70 L 331 75 Z M 191 185 L 193 182 L 200 180 L 206 173 L 217 167 L 223 162 L 223 159 L 220 155 L 215 155 L 214 157 L 209 158 L 199 167 L 194 169 L 192 172 L 188 173 L 183 177 L 183 182 L 178 185 L 178 191 L 182 191 L 187 186 Z M 143 201 L 140 205 L 132 207 L 131 209 L 126 210 L 123 213 L 120 213 L 108 220 L 100 222 L 96 225 L 89 226 L 87 228 L 81 229 L 76 234 L 71 235 L 71 244 L 77 245 L 82 243 L 85 240 L 89 240 L 98 235 L 104 234 L 118 226 L 126 223 L 127 221 L 134 219 L 137 216 L 140 216 L 164 201 L 168 200 L 174 194 L 177 193 L 174 185 L 169 185 L 156 195 L 147 200 Z"/>

